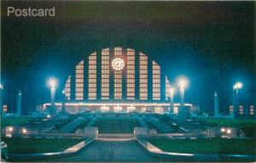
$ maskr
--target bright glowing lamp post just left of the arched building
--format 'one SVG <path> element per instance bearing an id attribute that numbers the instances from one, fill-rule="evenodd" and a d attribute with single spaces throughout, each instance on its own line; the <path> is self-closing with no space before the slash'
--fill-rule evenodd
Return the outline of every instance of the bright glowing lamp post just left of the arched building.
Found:
<path id="1" fill-rule="evenodd" d="M 55 87 L 57 84 L 57 81 L 55 78 L 50 78 L 48 81 L 49 87 L 50 87 L 50 115 L 55 116 Z"/>

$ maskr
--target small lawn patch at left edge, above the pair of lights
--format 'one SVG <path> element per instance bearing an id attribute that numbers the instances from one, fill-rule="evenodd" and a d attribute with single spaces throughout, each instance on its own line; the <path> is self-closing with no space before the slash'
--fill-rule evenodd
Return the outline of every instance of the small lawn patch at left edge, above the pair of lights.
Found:
<path id="1" fill-rule="evenodd" d="M 1 127 L 3 126 L 17 126 L 20 124 L 24 124 L 29 120 L 32 120 L 32 117 L 9 117 L 1 119 Z"/>

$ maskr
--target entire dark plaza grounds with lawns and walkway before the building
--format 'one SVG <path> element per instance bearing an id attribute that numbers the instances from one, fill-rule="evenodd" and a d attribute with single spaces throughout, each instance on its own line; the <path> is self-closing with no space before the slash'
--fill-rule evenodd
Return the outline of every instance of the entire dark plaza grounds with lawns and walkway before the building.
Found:
<path id="1" fill-rule="evenodd" d="M 15 119 L 19 118 L 12 121 Z M 255 121 L 210 119 L 184 121 L 148 113 L 84 113 L 39 123 L 26 121 L 20 123 L 26 127 L 26 134 L 15 134 L 14 127 L 13 133 L 2 140 L 9 146 L 11 162 L 254 160 Z M 225 124 L 220 125 L 221 121 Z M 235 126 L 228 125 L 231 121 L 236 121 Z"/>

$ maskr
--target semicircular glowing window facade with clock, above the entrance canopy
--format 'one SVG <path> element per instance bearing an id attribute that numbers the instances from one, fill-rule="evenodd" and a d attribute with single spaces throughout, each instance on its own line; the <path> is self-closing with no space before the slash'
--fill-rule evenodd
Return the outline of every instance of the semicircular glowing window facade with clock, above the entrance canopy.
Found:
<path id="1" fill-rule="evenodd" d="M 68 101 L 163 102 L 169 97 L 167 76 L 147 54 L 131 48 L 91 53 L 67 77 Z"/>

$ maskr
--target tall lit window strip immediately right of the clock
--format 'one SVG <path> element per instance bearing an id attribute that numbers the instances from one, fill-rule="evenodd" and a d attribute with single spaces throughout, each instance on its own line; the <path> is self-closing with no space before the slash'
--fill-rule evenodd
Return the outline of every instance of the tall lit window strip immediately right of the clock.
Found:
<path id="1" fill-rule="evenodd" d="M 127 99 L 135 99 L 135 52 L 133 49 L 127 49 Z"/>

